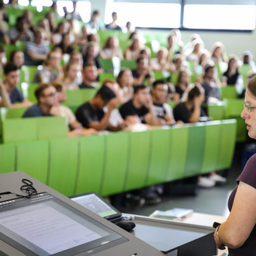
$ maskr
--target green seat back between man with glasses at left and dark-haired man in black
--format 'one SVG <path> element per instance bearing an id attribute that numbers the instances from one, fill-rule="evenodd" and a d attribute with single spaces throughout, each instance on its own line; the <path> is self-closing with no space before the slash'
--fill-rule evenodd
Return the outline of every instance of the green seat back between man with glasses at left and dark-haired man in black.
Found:
<path id="1" fill-rule="evenodd" d="M 71 108 L 73 112 L 78 109 L 79 106 L 88 102 L 92 99 L 97 92 L 97 89 L 79 89 L 79 90 L 67 90 L 65 91 L 67 95 L 67 100 L 63 103 L 64 106 Z"/>

